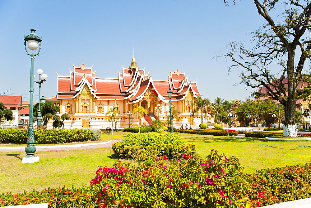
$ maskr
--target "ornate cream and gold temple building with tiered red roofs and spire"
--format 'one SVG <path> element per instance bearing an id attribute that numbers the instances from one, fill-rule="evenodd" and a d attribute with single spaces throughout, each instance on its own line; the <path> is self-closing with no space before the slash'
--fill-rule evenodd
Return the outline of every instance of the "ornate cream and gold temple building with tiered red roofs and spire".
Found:
<path id="1" fill-rule="evenodd" d="M 130 66 L 122 66 L 122 72 L 118 72 L 117 78 L 96 77 L 93 66 L 84 63 L 73 65 L 69 75 L 57 74 L 57 95 L 47 101 L 60 106 L 59 115 L 70 115 L 71 119 L 64 122 L 65 128 L 88 127 L 87 123 L 90 123 L 91 128 L 111 127 L 107 112 L 113 107 L 117 107 L 120 112 L 117 128 L 124 128 L 138 124 L 137 115 L 132 115 L 131 120 L 127 115 L 128 111 L 132 112 L 134 104 L 143 106 L 148 112 L 142 118 L 142 123 L 149 124 L 151 119 L 156 118 L 166 119 L 169 88 L 173 91 L 172 109 L 180 112 L 179 122 L 174 120 L 173 125 L 201 123 L 200 114 L 194 119 L 190 116 L 191 104 L 197 96 L 202 96 L 197 83 L 189 82 L 185 73 L 179 70 L 170 72 L 167 80 L 153 80 L 151 75 L 145 73 L 145 69 L 138 67 L 134 52 Z M 155 109 L 158 104 L 163 107 L 160 112 Z M 48 125 L 51 126 L 52 122 Z"/>

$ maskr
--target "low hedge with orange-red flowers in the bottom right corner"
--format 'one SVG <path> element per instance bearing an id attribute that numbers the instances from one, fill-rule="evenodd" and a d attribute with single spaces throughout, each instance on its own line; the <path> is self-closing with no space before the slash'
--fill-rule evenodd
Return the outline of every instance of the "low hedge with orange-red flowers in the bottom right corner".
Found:
<path id="1" fill-rule="evenodd" d="M 311 164 L 262 169 L 250 174 L 252 206 L 311 197 Z"/>

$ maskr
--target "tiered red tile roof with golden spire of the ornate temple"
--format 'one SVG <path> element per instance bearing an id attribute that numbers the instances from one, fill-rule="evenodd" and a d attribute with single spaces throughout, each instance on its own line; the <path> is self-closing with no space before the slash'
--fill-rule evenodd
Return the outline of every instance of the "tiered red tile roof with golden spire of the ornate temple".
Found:
<path id="1" fill-rule="evenodd" d="M 73 67 L 70 76 L 57 75 L 58 94 L 47 100 L 72 99 L 81 93 L 85 85 L 99 100 L 114 99 L 116 95 L 118 99 L 129 99 L 129 103 L 141 100 L 148 88 L 165 103 L 169 100 L 166 93 L 169 88 L 173 91 L 172 100 L 184 99 L 189 90 L 195 97 L 202 96 L 197 89 L 197 83 L 188 82 L 185 73 L 179 70 L 171 72 L 167 81 L 152 80 L 151 76 L 145 74 L 145 69 L 139 69 L 134 53 L 130 67 L 122 67 L 122 73 L 119 72 L 118 78 L 96 77 L 92 67 L 87 67 L 84 63 Z"/>

